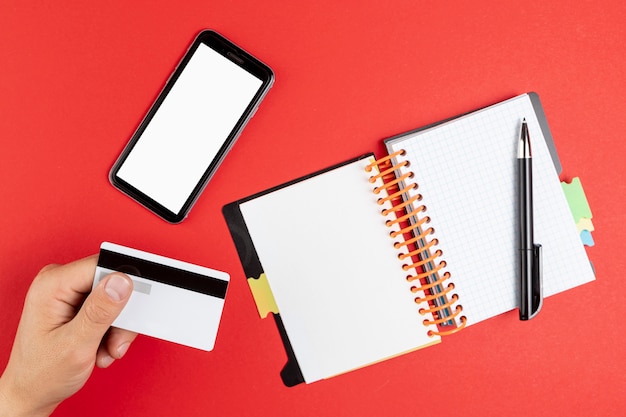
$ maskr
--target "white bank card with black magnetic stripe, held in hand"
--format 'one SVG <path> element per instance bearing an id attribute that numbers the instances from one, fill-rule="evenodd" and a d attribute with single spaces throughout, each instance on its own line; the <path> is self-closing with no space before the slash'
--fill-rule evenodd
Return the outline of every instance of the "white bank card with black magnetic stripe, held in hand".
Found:
<path id="1" fill-rule="evenodd" d="M 93 287 L 114 271 L 127 274 L 134 289 L 113 326 L 213 350 L 230 279 L 226 272 L 104 242 Z"/>

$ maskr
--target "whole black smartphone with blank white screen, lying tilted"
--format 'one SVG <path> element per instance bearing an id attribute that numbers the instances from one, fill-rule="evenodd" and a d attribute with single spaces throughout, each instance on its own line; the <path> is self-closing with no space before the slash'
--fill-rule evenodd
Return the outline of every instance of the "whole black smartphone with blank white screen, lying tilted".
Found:
<path id="1" fill-rule="evenodd" d="M 113 165 L 111 183 L 181 222 L 273 82 L 267 65 L 218 33 L 201 32 Z"/>

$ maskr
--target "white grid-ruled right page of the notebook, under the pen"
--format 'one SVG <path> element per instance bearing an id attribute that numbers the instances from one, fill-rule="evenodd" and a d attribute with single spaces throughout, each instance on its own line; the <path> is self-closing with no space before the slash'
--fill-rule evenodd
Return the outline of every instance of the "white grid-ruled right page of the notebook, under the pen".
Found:
<path id="1" fill-rule="evenodd" d="M 524 94 L 433 128 L 389 141 L 405 149 L 446 270 L 468 324 L 519 305 L 517 142 L 528 122 L 533 152 L 535 242 L 543 246 L 549 296 L 594 274 L 539 122 Z"/>

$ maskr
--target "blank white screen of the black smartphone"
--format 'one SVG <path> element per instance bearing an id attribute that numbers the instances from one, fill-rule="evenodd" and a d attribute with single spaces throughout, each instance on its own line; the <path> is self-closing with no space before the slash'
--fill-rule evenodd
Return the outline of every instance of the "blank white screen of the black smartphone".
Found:
<path id="1" fill-rule="evenodd" d="M 262 83 L 200 44 L 117 176 L 178 213 Z"/>

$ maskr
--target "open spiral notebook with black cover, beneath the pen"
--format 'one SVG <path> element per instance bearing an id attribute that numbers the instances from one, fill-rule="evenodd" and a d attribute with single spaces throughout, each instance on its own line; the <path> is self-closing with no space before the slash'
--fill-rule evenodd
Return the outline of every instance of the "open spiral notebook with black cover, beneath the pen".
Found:
<path id="1" fill-rule="evenodd" d="M 438 343 L 517 307 L 522 118 L 549 296 L 594 274 L 535 94 L 390 138 L 379 160 L 365 155 L 224 207 L 259 312 L 273 312 L 281 331 L 285 384 Z"/>

